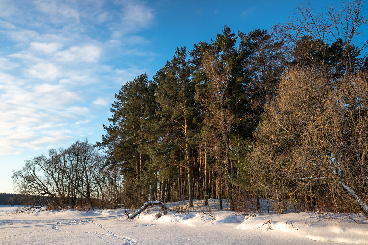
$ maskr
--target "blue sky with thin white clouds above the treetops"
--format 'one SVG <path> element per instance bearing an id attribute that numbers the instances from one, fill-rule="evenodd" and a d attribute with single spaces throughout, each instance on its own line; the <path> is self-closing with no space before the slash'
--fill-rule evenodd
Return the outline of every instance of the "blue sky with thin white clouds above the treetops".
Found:
<path id="1" fill-rule="evenodd" d="M 268 29 L 295 1 L 0 0 L 0 192 L 49 148 L 100 141 L 114 94 L 224 25 Z M 324 3 L 316 3 L 324 6 Z"/>

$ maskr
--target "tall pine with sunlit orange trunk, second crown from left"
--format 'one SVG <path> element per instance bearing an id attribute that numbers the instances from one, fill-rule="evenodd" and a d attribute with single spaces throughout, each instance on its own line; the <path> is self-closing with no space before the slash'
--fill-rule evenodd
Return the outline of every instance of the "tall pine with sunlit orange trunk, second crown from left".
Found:
<path id="1" fill-rule="evenodd" d="M 160 129 L 162 134 L 160 137 L 165 148 L 170 151 L 168 163 L 186 169 L 189 206 L 192 207 L 193 163 L 191 149 L 193 147 L 192 138 L 196 130 L 193 123 L 196 105 L 194 101 L 195 87 L 191 79 L 191 64 L 187 60 L 185 47 L 176 49 L 171 61 L 168 61 L 164 68 L 156 74 L 155 81 L 157 83 L 156 99 L 160 105 L 158 114 L 161 116 Z M 186 184 L 184 184 L 184 189 L 186 188 Z"/>

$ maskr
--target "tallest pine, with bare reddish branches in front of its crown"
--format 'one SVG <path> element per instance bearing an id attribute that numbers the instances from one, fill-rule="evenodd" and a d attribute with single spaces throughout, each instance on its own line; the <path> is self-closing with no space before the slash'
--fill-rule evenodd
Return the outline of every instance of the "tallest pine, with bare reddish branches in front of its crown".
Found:
<path id="1" fill-rule="evenodd" d="M 247 55 L 239 52 L 236 48 L 237 37 L 230 28 L 225 26 L 223 32 L 217 34 L 212 40 L 210 47 L 206 48 L 202 57 L 197 50 L 193 55 L 202 58 L 201 66 L 196 72 L 197 78 L 197 100 L 204 108 L 204 114 L 208 116 L 206 123 L 214 129 L 213 132 L 219 138 L 222 161 L 227 170 L 227 195 L 230 210 L 234 210 L 233 196 L 235 186 L 229 178 L 234 178 L 236 168 L 234 161 L 230 159 L 230 150 L 234 144 L 234 128 L 241 128 L 242 117 L 239 104 L 243 104 L 245 91 L 243 84 L 247 75 L 243 66 Z M 195 47 L 196 48 L 196 47 Z M 203 73 L 206 75 L 204 76 Z M 202 82 L 201 76 L 206 78 Z M 220 191 L 219 191 L 220 192 Z"/>

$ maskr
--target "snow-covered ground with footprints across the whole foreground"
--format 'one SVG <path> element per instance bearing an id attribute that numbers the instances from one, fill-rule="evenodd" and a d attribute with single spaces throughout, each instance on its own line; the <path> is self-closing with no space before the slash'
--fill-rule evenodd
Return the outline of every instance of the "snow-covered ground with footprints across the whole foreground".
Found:
<path id="1" fill-rule="evenodd" d="M 127 219 L 122 209 L 13 213 L 17 207 L 0 206 L 0 244 L 368 244 L 368 221 L 356 215 L 353 220 L 321 213 L 251 217 L 219 211 L 214 201 L 212 209 L 196 201 L 192 210 L 167 203 L 185 212 L 158 219 L 159 207 Z"/>

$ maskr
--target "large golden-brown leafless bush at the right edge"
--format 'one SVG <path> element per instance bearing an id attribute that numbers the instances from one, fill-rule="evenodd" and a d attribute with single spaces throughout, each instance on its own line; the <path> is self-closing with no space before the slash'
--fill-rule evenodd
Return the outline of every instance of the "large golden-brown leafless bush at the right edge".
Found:
<path id="1" fill-rule="evenodd" d="M 290 69 L 266 106 L 249 161 L 254 183 L 283 213 L 332 207 L 368 217 L 366 74 L 333 82 L 325 73 Z"/>

